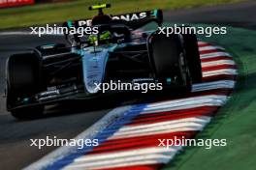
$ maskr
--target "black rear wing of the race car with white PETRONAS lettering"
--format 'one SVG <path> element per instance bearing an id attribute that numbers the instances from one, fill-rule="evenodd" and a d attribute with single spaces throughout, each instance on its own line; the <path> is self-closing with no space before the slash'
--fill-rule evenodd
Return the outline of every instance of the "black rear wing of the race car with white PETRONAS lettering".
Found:
<path id="1" fill-rule="evenodd" d="M 162 10 L 152 10 L 139 13 L 130 14 L 115 14 L 110 15 L 112 22 L 110 24 L 125 24 L 131 29 L 138 29 L 149 22 L 156 22 L 158 25 L 163 23 Z M 64 25 L 68 27 L 81 27 L 91 26 L 92 19 L 80 19 L 75 21 L 64 22 Z"/>

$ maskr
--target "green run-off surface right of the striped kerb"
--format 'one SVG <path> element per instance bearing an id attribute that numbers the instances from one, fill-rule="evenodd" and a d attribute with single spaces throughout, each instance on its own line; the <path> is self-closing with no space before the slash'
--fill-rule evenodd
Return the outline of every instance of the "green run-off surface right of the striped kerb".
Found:
<path id="1" fill-rule="evenodd" d="M 198 138 L 227 139 L 226 147 L 206 150 L 187 147 L 166 170 L 254 170 L 256 167 L 256 32 L 229 28 L 226 36 L 209 38 L 228 49 L 240 67 L 236 90 L 229 102 Z"/>

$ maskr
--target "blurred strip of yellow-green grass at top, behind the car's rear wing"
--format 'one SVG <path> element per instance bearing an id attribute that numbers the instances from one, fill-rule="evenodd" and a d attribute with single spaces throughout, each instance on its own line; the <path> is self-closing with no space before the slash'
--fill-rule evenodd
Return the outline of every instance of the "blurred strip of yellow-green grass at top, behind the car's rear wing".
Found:
<path id="1" fill-rule="evenodd" d="M 150 9 L 180 9 L 233 3 L 244 0 L 104 0 L 111 2 L 108 14 L 123 14 Z M 87 9 L 96 0 L 77 0 L 68 3 L 43 4 L 0 10 L 0 29 L 26 27 L 38 24 L 62 22 L 68 19 L 91 17 L 95 12 Z"/>

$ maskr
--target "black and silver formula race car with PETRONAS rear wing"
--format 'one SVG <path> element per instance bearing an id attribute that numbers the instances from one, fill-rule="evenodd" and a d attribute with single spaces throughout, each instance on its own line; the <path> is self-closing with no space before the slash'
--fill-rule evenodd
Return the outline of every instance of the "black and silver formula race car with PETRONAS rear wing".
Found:
<path id="1" fill-rule="evenodd" d="M 80 37 L 65 34 L 68 42 L 36 47 L 9 57 L 7 110 L 17 119 L 37 118 L 48 104 L 104 95 L 99 83 L 161 83 L 163 89 L 191 91 L 202 81 L 197 37 L 142 31 L 145 24 L 162 25 L 161 10 L 108 15 L 103 8 L 92 19 L 68 21 L 67 28 L 97 27 L 98 33 Z M 139 31 L 138 31 L 139 30 Z M 119 93 L 110 91 L 107 93 Z M 128 92 L 127 92 L 128 93 Z"/>

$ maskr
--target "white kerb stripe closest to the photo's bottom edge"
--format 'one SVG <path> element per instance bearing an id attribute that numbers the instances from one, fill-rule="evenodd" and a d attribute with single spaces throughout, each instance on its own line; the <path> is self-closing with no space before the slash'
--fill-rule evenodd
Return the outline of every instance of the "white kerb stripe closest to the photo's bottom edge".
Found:
<path id="1" fill-rule="evenodd" d="M 116 153 L 107 153 L 92 156 L 82 156 L 65 167 L 65 170 L 72 169 L 103 169 L 113 167 L 124 167 L 132 165 L 166 163 L 181 147 L 149 147 Z M 93 162 L 92 162 L 93 161 Z"/>

